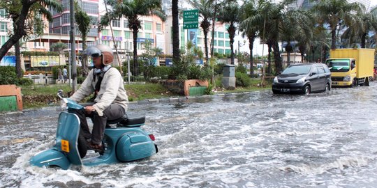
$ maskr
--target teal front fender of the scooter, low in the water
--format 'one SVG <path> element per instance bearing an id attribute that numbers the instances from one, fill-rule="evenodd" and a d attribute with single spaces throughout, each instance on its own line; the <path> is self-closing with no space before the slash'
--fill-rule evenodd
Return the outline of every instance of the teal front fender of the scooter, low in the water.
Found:
<path id="1" fill-rule="evenodd" d="M 69 162 L 66 155 L 61 151 L 54 150 L 54 148 L 38 152 L 34 157 L 31 157 L 30 164 L 39 167 L 59 166 L 64 170 L 71 166 L 71 162 Z"/>

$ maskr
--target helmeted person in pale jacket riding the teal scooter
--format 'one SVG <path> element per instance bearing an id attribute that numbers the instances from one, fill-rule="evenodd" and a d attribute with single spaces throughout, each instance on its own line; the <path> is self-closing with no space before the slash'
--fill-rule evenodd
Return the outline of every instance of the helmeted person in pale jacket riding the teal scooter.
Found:
<path id="1" fill-rule="evenodd" d="M 80 102 L 94 93 L 94 104 L 73 113 L 80 118 L 80 134 L 88 141 L 88 148 L 104 150 L 102 145 L 106 121 L 121 118 L 127 111 L 128 96 L 124 89 L 123 78 L 116 68 L 111 67 L 114 59 L 112 49 L 107 45 L 96 45 L 86 49 L 87 56 L 93 59 L 94 68 L 80 88 L 70 97 Z M 86 117 L 93 120 L 90 132 Z"/>

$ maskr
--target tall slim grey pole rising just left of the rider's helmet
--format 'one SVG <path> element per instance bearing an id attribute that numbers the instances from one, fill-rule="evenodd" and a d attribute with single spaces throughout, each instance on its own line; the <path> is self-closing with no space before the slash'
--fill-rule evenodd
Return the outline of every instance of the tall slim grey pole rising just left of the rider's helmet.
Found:
<path id="1" fill-rule="evenodd" d="M 69 12 L 71 16 L 71 63 L 72 63 L 72 92 L 75 93 L 77 85 L 77 70 L 76 70 L 76 42 L 75 42 L 75 8 L 73 0 L 69 1 Z"/>

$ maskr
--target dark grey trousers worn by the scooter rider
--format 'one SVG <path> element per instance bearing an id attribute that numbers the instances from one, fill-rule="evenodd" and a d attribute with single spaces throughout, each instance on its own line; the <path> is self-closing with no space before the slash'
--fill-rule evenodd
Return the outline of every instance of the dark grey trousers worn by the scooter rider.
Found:
<path id="1" fill-rule="evenodd" d="M 126 111 L 124 111 L 124 108 L 119 104 L 110 104 L 110 106 L 103 111 L 103 116 L 98 116 L 96 111 L 88 114 L 85 109 L 75 109 L 71 111 L 71 113 L 75 113 L 80 119 L 80 134 L 84 136 L 85 139 L 91 139 L 92 143 L 101 144 L 106 121 L 121 118 Z M 87 117 L 91 118 L 93 121 L 91 133 L 87 123 Z"/>

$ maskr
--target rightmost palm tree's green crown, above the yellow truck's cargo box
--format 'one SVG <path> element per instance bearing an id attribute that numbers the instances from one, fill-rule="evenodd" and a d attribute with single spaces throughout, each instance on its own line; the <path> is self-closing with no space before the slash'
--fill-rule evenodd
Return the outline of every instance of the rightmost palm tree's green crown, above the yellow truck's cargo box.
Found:
<path id="1" fill-rule="evenodd" d="M 356 22 L 353 22 L 346 31 L 342 34 L 343 40 L 348 39 L 348 45 L 351 42 L 361 44 L 362 48 L 365 48 L 365 42 L 369 31 L 377 31 L 377 6 L 367 12 L 365 7 L 362 6 L 362 11 L 356 14 Z"/>

